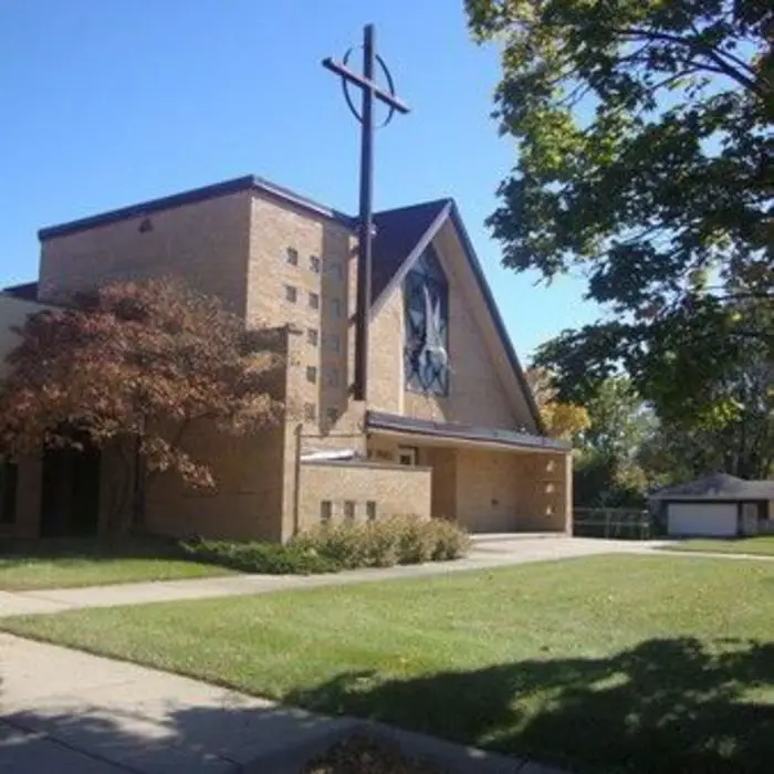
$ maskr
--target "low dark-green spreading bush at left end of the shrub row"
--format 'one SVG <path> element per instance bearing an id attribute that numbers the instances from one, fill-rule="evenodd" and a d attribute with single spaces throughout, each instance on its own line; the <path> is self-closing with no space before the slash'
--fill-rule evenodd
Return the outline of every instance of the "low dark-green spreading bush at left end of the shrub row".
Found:
<path id="1" fill-rule="evenodd" d="M 336 573 L 344 565 L 332 556 L 322 556 L 302 545 L 261 542 L 184 541 L 182 550 L 191 558 L 231 567 L 243 573 L 265 575 L 311 575 Z"/>

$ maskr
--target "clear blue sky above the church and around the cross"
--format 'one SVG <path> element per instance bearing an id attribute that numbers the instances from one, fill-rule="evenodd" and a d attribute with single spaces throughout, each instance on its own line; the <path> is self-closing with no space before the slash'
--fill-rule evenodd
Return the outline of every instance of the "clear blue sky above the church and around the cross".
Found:
<path id="1" fill-rule="evenodd" d="M 412 107 L 377 136 L 377 208 L 453 196 L 522 359 L 596 316 L 583 285 L 500 265 L 483 226 L 513 143 L 461 0 L 0 0 L 0 285 L 36 230 L 254 172 L 357 211 L 358 135 L 320 66 L 377 25 Z"/>

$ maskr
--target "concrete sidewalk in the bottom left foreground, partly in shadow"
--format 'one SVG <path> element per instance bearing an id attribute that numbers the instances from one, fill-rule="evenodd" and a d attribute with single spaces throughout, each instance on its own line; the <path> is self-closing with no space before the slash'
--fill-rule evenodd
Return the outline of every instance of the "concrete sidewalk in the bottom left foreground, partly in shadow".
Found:
<path id="1" fill-rule="evenodd" d="M 0 772 L 294 774 L 337 739 L 367 730 L 449 774 L 561 774 L 10 635 L 0 635 Z"/>

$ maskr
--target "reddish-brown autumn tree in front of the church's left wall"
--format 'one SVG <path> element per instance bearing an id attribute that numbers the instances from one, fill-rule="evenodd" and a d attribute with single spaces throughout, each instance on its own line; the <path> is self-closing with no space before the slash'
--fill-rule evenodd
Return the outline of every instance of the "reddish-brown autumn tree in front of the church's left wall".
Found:
<path id="1" fill-rule="evenodd" d="M 189 428 L 252 433 L 281 416 L 281 364 L 264 332 L 172 280 L 77 293 L 15 332 L 0 385 L 0 450 L 115 448 L 134 471 L 137 526 L 146 477 L 171 471 L 190 487 L 213 485 L 207 462 L 186 449 Z"/>

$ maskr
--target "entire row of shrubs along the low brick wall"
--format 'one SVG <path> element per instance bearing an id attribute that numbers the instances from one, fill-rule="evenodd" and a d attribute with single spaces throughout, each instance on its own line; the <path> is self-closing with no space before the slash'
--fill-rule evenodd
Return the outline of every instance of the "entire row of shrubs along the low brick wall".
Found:
<path id="1" fill-rule="evenodd" d="M 310 575 L 457 559 L 467 554 L 469 537 L 447 521 L 394 516 L 362 524 L 321 525 L 284 545 L 197 538 L 186 541 L 182 548 L 191 558 L 241 572 Z"/>

